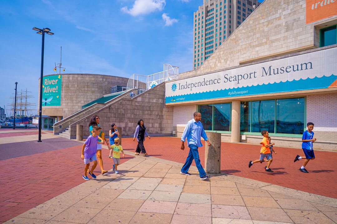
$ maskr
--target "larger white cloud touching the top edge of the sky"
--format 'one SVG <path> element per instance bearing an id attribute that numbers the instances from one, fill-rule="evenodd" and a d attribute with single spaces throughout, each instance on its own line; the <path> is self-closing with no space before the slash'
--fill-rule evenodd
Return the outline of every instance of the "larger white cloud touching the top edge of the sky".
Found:
<path id="1" fill-rule="evenodd" d="M 161 11 L 165 7 L 165 0 L 135 0 L 132 8 L 127 6 L 121 8 L 122 12 L 128 13 L 132 16 L 149 14 L 154 11 Z"/>

